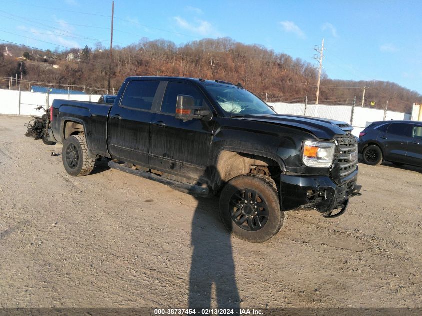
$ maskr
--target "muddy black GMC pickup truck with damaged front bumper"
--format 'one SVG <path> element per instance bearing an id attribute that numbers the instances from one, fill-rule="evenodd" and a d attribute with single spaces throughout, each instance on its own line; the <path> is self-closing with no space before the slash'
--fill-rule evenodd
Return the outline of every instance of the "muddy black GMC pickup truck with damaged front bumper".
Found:
<path id="1" fill-rule="evenodd" d="M 48 134 L 63 143 L 69 174 L 88 175 L 96 158 L 107 157 L 111 168 L 217 195 L 227 229 L 262 242 L 280 230 L 287 210 L 344 213 L 361 188 L 351 130 L 277 114 L 240 84 L 129 77 L 113 105 L 54 100 Z"/>

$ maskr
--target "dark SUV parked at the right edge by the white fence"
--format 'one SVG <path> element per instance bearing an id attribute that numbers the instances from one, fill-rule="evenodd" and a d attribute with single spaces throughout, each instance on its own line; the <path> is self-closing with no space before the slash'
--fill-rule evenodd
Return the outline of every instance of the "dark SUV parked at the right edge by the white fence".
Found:
<path id="1" fill-rule="evenodd" d="M 422 167 L 422 122 L 373 122 L 359 133 L 358 150 L 368 165 L 390 161 Z"/>

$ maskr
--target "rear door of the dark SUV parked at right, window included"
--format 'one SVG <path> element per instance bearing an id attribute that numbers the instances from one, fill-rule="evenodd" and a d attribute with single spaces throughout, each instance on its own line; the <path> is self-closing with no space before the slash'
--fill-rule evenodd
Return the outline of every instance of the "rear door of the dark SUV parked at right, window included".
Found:
<path id="1" fill-rule="evenodd" d="M 406 151 L 411 136 L 411 125 L 391 123 L 386 133 L 380 133 L 377 140 L 384 147 L 385 159 L 406 163 Z"/>

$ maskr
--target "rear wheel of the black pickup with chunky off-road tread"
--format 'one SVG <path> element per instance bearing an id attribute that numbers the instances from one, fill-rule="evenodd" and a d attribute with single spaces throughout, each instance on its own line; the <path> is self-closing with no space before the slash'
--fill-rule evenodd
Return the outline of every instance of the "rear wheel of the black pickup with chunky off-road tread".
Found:
<path id="1" fill-rule="evenodd" d="M 68 150 L 72 153 L 69 153 Z M 77 159 L 71 165 L 69 163 L 69 155 L 73 155 L 73 152 L 77 154 Z M 67 137 L 63 142 L 61 157 L 64 169 L 72 176 L 86 176 L 94 169 L 95 159 L 88 158 L 88 144 L 86 143 L 85 135 Z"/>

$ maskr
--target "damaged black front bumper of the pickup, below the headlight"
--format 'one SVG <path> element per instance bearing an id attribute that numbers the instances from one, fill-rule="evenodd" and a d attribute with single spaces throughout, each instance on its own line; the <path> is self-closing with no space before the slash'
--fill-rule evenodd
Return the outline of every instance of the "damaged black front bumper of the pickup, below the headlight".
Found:
<path id="1" fill-rule="evenodd" d="M 345 211 L 350 197 L 360 195 L 360 185 L 356 184 L 358 169 L 337 185 L 328 176 L 280 176 L 280 201 L 283 211 L 293 209 L 315 209 L 331 214 L 334 209 Z"/>

